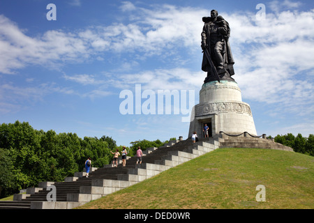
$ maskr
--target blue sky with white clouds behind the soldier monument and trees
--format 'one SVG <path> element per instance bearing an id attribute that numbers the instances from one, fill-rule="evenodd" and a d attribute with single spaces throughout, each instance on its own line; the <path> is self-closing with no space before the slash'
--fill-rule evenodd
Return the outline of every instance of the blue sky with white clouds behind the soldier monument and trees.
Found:
<path id="1" fill-rule="evenodd" d="M 197 104 L 206 77 L 202 17 L 216 9 L 230 23 L 234 79 L 257 134 L 313 134 L 313 1 L 204 2 L 1 0 L 0 123 L 106 135 L 125 146 L 188 137 L 182 110 L 135 114 L 135 86 L 156 101 L 158 90 L 195 91 Z M 134 93 L 134 114 L 121 114 L 124 91 Z"/>

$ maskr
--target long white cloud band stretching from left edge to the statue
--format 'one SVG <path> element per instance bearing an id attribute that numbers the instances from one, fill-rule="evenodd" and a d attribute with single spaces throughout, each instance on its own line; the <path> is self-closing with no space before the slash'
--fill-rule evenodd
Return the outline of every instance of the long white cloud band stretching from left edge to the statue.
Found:
<path id="1" fill-rule="evenodd" d="M 199 45 L 202 29 L 199 13 L 205 14 L 203 10 L 162 6 L 157 10 L 137 8 L 136 13 L 140 17 L 128 24 L 91 26 L 71 32 L 52 30 L 36 37 L 27 36 L 17 24 L 1 15 L 0 72 L 14 73 L 33 64 L 53 67 L 57 63 L 55 67 L 60 67 L 63 63 L 82 63 L 91 56 L 99 59 L 101 52 L 144 53 L 139 56 L 141 59 L 170 56 L 177 54 L 174 49 L 193 49 L 192 46 Z"/>

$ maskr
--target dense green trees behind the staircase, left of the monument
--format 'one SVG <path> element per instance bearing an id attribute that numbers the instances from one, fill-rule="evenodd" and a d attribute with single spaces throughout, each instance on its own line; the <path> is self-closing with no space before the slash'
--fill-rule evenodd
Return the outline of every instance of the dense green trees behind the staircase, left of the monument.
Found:
<path id="1" fill-rule="evenodd" d="M 127 150 L 132 155 L 135 147 L 151 144 L 164 143 L 137 141 Z M 88 157 L 93 160 L 93 167 L 103 167 L 112 161 L 110 151 L 117 148 L 122 150 L 122 146 L 107 136 L 82 139 L 75 133 L 35 130 L 27 122 L 3 123 L 0 125 L 0 197 L 42 181 L 63 181 L 66 176 L 83 171 Z"/>

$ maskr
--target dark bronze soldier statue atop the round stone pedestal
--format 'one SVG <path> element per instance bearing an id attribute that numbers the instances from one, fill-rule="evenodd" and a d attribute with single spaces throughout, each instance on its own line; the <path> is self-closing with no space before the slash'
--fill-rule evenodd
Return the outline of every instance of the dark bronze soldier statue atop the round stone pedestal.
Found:
<path id="1" fill-rule="evenodd" d="M 202 49 L 204 50 L 202 70 L 207 72 L 204 83 L 228 80 L 233 81 L 234 60 L 230 49 L 230 27 L 216 10 L 211 17 L 203 17 Z"/>

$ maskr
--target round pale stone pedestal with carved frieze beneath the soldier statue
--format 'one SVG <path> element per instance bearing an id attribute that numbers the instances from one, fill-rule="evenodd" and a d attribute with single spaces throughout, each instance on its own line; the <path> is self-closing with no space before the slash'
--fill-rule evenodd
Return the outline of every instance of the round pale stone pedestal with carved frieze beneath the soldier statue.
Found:
<path id="1" fill-rule="evenodd" d="M 203 138 L 205 123 L 209 126 L 209 137 L 218 135 L 220 131 L 257 135 L 251 107 L 242 102 L 237 82 L 214 81 L 203 84 L 200 104 L 195 105 L 193 111 L 188 137 L 196 132 L 198 137 Z"/>

